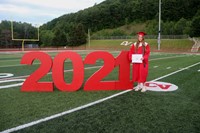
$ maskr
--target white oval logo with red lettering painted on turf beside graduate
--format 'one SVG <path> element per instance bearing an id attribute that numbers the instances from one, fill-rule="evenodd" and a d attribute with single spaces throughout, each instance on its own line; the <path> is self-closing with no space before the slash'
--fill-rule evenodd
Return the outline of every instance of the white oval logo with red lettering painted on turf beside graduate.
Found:
<path id="1" fill-rule="evenodd" d="M 178 89 L 178 86 L 171 84 L 171 83 L 166 83 L 166 82 L 146 82 L 146 87 L 147 90 L 149 91 L 163 91 L 163 92 L 168 92 L 168 91 L 176 91 Z"/>

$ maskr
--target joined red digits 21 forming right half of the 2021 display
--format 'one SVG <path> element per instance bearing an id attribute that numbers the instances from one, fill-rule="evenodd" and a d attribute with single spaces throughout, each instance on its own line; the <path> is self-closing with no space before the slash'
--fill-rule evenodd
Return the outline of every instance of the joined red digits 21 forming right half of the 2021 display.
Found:
<path id="1" fill-rule="evenodd" d="M 84 90 L 126 90 L 133 87 L 133 82 L 130 81 L 128 51 L 122 51 L 116 59 L 108 52 L 93 52 L 86 57 L 84 63 L 95 64 L 98 59 L 104 60 L 104 66 L 88 79 Z M 119 80 L 101 81 L 117 66 L 119 66 Z"/>

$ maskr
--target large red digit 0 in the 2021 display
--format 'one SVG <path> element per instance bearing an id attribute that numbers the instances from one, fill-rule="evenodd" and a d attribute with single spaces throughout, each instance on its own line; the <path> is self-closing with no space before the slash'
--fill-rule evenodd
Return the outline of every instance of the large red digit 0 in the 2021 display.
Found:
<path id="1" fill-rule="evenodd" d="M 64 80 L 64 61 L 71 59 L 73 64 L 73 80 L 71 84 L 65 83 Z M 61 91 L 77 91 L 84 80 L 84 65 L 80 55 L 75 52 L 59 53 L 53 63 L 52 68 L 53 81 L 56 87 Z"/>

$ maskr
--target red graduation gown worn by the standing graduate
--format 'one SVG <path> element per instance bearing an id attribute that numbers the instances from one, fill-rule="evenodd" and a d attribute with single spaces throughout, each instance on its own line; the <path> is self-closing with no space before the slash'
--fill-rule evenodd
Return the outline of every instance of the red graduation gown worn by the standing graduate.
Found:
<path id="1" fill-rule="evenodd" d="M 136 49 L 136 43 L 134 43 L 129 51 L 129 60 L 131 61 L 132 54 L 143 54 L 142 43 L 139 44 L 138 49 Z M 133 82 L 145 83 L 148 76 L 149 67 L 149 55 L 150 47 L 149 44 L 145 42 L 145 53 L 143 55 L 142 63 L 133 63 Z"/>

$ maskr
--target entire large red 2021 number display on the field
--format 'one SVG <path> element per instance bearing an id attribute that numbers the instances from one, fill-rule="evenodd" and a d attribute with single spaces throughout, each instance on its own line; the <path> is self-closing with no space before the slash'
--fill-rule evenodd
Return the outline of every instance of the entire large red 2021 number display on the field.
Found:
<path id="1" fill-rule="evenodd" d="M 64 79 L 64 63 L 68 59 L 73 66 L 71 83 L 66 83 Z M 72 51 L 61 52 L 53 60 L 47 53 L 29 52 L 22 57 L 21 64 L 32 65 L 34 60 L 39 60 L 41 65 L 25 80 L 21 91 L 52 92 L 54 85 L 60 91 L 77 91 L 84 82 L 84 65 L 95 65 L 99 59 L 104 61 L 104 65 L 87 79 L 83 88 L 85 91 L 126 90 L 133 87 L 128 51 L 122 51 L 116 58 L 109 52 L 95 51 L 89 53 L 84 60 L 78 53 Z M 118 80 L 102 81 L 116 67 L 118 67 Z M 51 69 L 53 82 L 39 82 Z"/>

